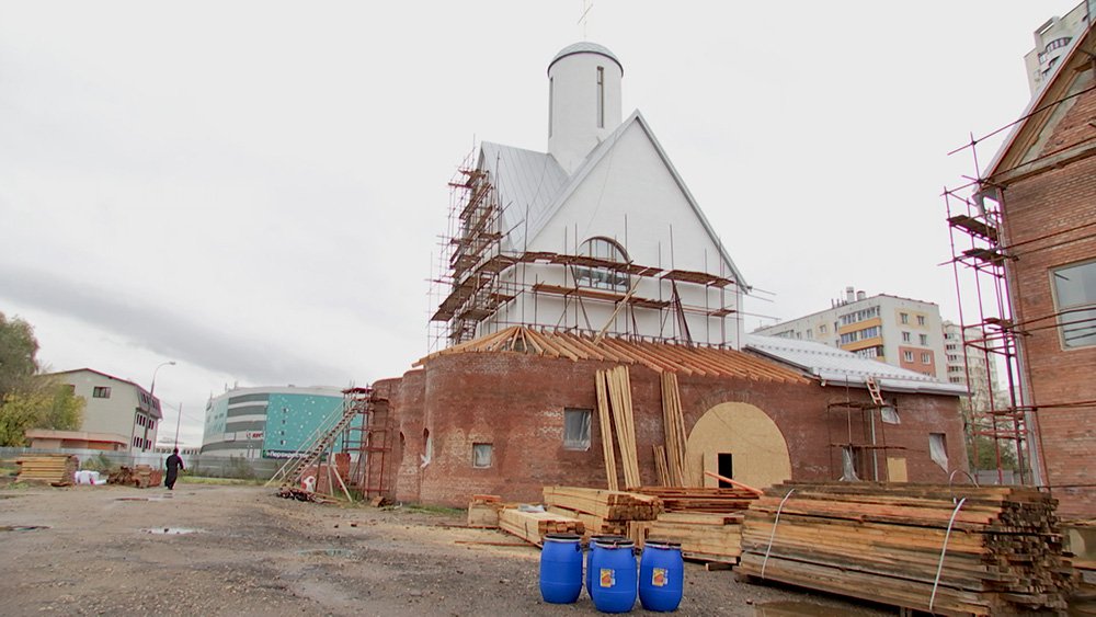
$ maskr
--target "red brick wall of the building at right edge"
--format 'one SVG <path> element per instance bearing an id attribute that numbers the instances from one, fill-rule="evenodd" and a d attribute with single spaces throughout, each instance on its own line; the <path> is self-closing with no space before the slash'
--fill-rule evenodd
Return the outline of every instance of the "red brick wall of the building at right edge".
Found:
<path id="1" fill-rule="evenodd" d="M 1091 82 L 1089 82 L 1091 84 Z M 1043 148 L 1050 152 L 1091 138 L 1096 92 L 1077 99 Z M 1096 259 L 1096 158 L 1009 185 L 1004 192 L 1006 245 L 1019 259 L 1009 263 L 1013 308 L 1026 323 L 1020 338 L 1030 400 L 1041 407 L 1037 426 L 1046 462 L 1046 482 L 1068 517 L 1096 515 L 1096 405 L 1075 409 L 1060 403 L 1096 400 L 1096 346 L 1064 350 L 1051 319 L 1055 312 L 1051 271 Z M 1054 236 L 1047 240 L 1037 237 Z M 1087 236 L 1087 237 L 1086 237 Z M 1057 245 L 1052 245 L 1057 244 Z M 1057 488 L 1055 488 L 1057 487 Z"/>

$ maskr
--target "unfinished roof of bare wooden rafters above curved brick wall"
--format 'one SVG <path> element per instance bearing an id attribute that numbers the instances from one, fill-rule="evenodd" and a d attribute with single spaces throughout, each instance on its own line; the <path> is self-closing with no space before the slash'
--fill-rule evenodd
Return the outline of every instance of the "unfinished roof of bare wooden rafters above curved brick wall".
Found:
<path id="1" fill-rule="evenodd" d="M 741 377 L 786 384 L 809 379 L 767 359 L 734 350 L 687 347 L 673 343 L 626 341 L 606 336 L 596 343 L 590 336 L 537 332 L 513 325 L 493 334 L 447 347 L 414 363 L 422 366 L 439 356 L 468 353 L 520 353 L 541 357 L 641 365 L 657 373 L 708 377 Z"/>

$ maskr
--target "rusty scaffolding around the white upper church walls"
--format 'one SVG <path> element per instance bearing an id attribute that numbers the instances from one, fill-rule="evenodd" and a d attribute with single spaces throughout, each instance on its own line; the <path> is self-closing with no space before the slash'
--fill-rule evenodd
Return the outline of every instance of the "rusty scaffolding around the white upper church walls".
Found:
<path id="1" fill-rule="evenodd" d="M 598 338 L 612 334 L 644 341 L 684 340 L 686 344 L 692 344 L 693 333 L 689 332 L 686 316 L 724 318 L 737 312 L 727 300 L 726 292 L 738 294 L 738 284 L 729 276 L 580 254 L 578 240 L 574 252 L 504 250 L 503 239 L 511 230 L 502 228 L 502 212 L 510 205 L 499 203 L 499 192 L 494 184 L 496 179 L 492 179 L 490 172 L 475 167 L 472 162 L 472 155 L 469 155 L 449 181 L 448 229 L 441 238 L 439 259 L 431 279 L 431 353 L 470 341 L 477 334 L 484 334 L 480 325 L 487 320 L 491 320 L 495 330 L 525 325 L 547 332 L 581 333 Z M 557 283 L 536 276 L 530 279 L 525 271 L 527 266 L 560 268 L 561 274 L 556 277 Z M 615 281 L 627 281 L 627 290 L 580 285 L 580 273 L 590 272 L 604 274 Z M 659 286 L 660 297 L 639 296 L 636 290 L 643 279 L 664 283 L 667 288 L 663 292 L 664 286 Z M 560 281 L 563 284 L 558 284 Z M 682 302 L 680 285 L 703 287 L 706 306 Z M 712 294 L 707 293 L 710 289 L 723 292 L 717 294 L 718 301 L 710 300 Z M 534 316 L 541 310 L 538 302 L 551 298 L 562 300 L 563 316 L 571 313 L 574 317 L 568 323 L 562 323 L 561 317 L 561 322 L 556 325 L 530 323 L 536 321 L 536 317 L 526 319 L 524 315 L 518 319 L 501 319 L 500 310 L 522 297 L 528 299 L 527 306 Z M 606 325 L 591 322 L 587 306 L 596 305 L 612 306 L 610 322 L 616 322 L 620 317 L 621 327 L 609 329 L 612 323 Z M 637 310 L 658 311 L 662 330 L 670 332 L 664 335 L 641 335 Z"/>

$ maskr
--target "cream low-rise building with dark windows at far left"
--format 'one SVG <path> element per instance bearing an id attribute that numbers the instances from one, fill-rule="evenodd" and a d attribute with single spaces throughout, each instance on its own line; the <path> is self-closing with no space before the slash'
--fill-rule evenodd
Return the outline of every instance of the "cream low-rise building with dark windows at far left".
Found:
<path id="1" fill-rule="evenodd" d="M 52 376 L 87 401 L 80 432 L 98 434 L 98 441 L 106 438 L 103 435 L 113 436 L 113 442 L 127 443 L 129 452 L 146 453 L 156 447 L 163 415 L 160 400 L 151 392 L 133 381 L 91 368 L 62 370 Z"/>

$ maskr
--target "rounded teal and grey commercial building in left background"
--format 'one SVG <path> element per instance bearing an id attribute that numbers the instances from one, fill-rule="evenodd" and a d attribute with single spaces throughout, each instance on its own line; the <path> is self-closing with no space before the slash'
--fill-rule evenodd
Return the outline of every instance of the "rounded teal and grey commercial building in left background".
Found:
<path id="1" fill-rule="evenodd" d="M 206 403 L 202 454 L 292 456 L 342 411 L 339 388 L 233 388 Z"/>

